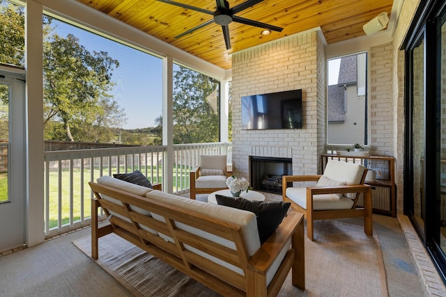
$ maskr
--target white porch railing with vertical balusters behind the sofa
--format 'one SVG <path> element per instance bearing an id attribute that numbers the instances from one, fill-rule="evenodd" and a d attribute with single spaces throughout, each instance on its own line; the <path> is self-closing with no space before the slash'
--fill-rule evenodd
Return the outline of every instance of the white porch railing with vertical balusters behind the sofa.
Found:
<path id="1" fill-rule="evenodd" d="M 226 154 L 231 163 L 231 150 L 231 143 L 174 145 L 172 172 L 166 172 L 165 146 L 45 152 L 45 236 L 91 223 L 89 182 L 102 175 L 138 169 L 152 183 L 171 179 L 173 193 L 182 195 L 189 191 L 189 172 L 198 166 L 201 154 Z"/>

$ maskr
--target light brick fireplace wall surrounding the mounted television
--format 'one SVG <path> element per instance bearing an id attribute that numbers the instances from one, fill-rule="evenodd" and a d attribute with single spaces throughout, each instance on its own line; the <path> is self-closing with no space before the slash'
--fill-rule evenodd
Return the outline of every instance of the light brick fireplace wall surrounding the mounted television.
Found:
<path id="1" fill-rule="evenodd" d="M 240 98 L 302 89 L 303 129 L 242 130 Z M 233 54 L 233 172 L 249 178 L 249 156 L 291 158 L 293 174 L 315 173 L 325 144 L 325 56 L 318 31 Z"/>

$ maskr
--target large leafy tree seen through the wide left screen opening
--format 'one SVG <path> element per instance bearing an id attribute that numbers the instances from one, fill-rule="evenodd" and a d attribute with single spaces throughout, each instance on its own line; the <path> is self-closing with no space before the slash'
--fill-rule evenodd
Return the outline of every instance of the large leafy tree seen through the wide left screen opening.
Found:
<path id="1" fill-rule="evenodd" d="M 72 128 L 80 132 L 79 128 L 92 126 L 95 133 L 84 133 L 84 137 L 89 136 L 85 141 L 104 138 L 104 135 L 98 136 L 99 125 L 118 124 L 116 117 L 122 120 L 123 116 L 123 111 L 107 93 L 112 90 L 112 72 L 118 67 L 118 61 L 105 51 L 90 53 L 72 34 L 61 38 L 53 33 L 45 42 L 43 52 L 45 125 L 51 120 L 60 121 L 68 141 L 74 141 Z M 106 120 L 110 115 L 115 118 Z"/>

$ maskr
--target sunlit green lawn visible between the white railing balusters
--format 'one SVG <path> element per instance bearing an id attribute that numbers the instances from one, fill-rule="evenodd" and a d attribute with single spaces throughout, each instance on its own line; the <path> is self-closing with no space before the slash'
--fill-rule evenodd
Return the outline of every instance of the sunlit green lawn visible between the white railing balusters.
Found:
<path id="1" fill-rule="evenodd" d="M 162 168 L 154 168 L 155 171 L 160 172 L 160 180 L 151 180 L 152 183 L 162 182 Z M 140 168 L 141 172 L 146 172 L 146 168 Z M 120 172 L 125 172 L 123 167 L 120 168 Z M 130 172 L 131 169 L 128 170 Z M 107 171 L 108 172 L 108 171 Z M 107 174 L 104 172 L 104 174 Z M 117 170 L 112 170 L 117 172 Z M 148 168 L 148 172 L 151 172 L 151 168 Z M 174 179 L 174 188 L 176 183 L 182 184 L 183 187 L 189 187 L 189 176 L 185 167 L 180 168 L 178 173 L 174 170 L 174 176 L 178 175 L 178 180 Z M 98 169 L 94 170 L 94 179 L 100 176 Z M 62 171 L 61 176 L 61 193 L 59 198 L 59 181 L 58 172 L 49 172 L 49 227 L 56 227 L 59 221 L 59 208 L 61 209 L 62 225 L 70 223 L 70 172 L 68 168 Z M 91 177 L 91 170 L 84 169 L 84 184 L 81 184 L 81 172 L 80 169 L 73 169 L 72 175 L 72 220 L 73 222 L 80 220 L 81 213 L 83 211 L 84 218 L 91 216 L 91 191 L 88 181 Z M 180 181 L 180 178 L 182 181 Z M 150 179 L 150 177 L 149 177 Z M 0 179 L 1 182 L 1 179 Z M 0 185 L 1 186 L 1 185 Z M 84 198 L 82 202 L 82 186 L 84 187 Z M 82 206 L 84 209 L 82 210 Z"/>

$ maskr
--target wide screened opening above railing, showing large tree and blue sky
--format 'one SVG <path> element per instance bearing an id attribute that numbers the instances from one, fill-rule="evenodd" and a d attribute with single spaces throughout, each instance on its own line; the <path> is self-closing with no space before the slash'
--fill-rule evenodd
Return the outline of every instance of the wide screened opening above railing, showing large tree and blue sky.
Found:
<path id="1" fill-rule="evenodd" d="M 44 19 L 45 140 L 162 144 L 162 59 Z"/>

